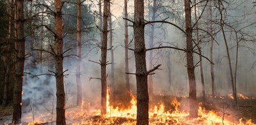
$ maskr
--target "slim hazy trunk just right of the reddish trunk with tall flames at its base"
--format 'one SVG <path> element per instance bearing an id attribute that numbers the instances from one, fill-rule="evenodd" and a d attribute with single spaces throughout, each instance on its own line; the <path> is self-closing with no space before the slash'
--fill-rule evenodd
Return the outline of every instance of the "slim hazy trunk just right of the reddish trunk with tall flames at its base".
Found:
<path id="1" fill-rule="evenodd" d="M 109 24 L 109 30 L 110 30 L 110 58 L 111 58 L 111 75 L 110 75 L 110 88 L 111 90 L 115 90 L 115 83 L 114 83 L 114 79 L 115 79 L 115 74 L 114 74 L 114 50 L 113 50 L 113 46 L 112 46 L 112 43 L 113 43 L 113 32 L 112 32 L 112 19 L 111 19 L 111 9 L 110 9 L 110 2 L 109 2 L 109 5 L 108 5 L 108 24 Z"/>

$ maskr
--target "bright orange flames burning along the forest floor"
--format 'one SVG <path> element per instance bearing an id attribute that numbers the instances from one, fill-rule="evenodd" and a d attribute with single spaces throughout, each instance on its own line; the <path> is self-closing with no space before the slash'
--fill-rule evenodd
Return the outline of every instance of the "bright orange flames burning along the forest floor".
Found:
<path id="1" fill-rule="evenodd" d="M 136 97 L 132 94 L 130 95 L 132 98 L 129 108 L 114 108 L 114 106 L 110 105 L 108 89 L 107 114 L 101 115 L 100 109 L 88 110 L 90 103 L 86 104 L 85 101 L 83 101 L 80 110 L 67 109 L 66 121 L 69 124 L 136 124 Z M 239 97 L 245 98 L 242 94 L 240 94 Z M 179 109 L 181 103 L 176 98 L 174 98 L 170 104 L 174 107 L 173 110 L 166 111 L 163 103 L 151 108 L 149 110 L 149 124 L 254 124 L 251 119 L 240 118 L 235 121 L 234 119 L 229 119 L 230 117 L 226 117 L 229 114 L 218 113 L 214 110 L 207 111 L 202 107 L 202 103 L 199 103 L 198 117 L 192 119 L 189 118 L 187 111 L 181 111 Z M 84 107 L 87 108 L 85 109 Z M 32 116 L 24 119 L 32 119 Z M 50 123 L 49 121 L 54 121 L 50 113 L 40 115 L 39 118 L 29 124 Z"/>

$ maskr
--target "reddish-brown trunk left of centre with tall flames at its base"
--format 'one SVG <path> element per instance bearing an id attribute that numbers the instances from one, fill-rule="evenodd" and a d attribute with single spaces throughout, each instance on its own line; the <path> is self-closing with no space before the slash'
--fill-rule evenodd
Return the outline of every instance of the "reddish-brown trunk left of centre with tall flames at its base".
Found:
<path id="1" fill-rule="evenodd" d="M 107 42 L 108 42 L 108 3 L 109 0 L 104 0 L 103 5 L 103 39 L 102 39 L 102 59 L 101 59 L 101 80 L 102 80 L 102 109 L 101 113 L 106 114 L 106 103 L 107 103 Z"/>

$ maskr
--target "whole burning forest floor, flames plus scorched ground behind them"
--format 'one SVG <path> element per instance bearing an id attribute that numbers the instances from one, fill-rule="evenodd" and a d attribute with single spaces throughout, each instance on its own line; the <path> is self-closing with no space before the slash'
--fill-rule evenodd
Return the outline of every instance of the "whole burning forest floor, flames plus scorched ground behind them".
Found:
<path id="1" fill-rule="evenodd" d="M 109 89 L 108 89 L 109 90 Z M 110 92 L 108 92 L 110 93 Z M 115 95 L 115 96 L 114 96 Z M 154 95 L 150 98 L 150 124 L 255 124 L 255 97 L 237 94 L 239 105 L 234 110 L 232 95 L 199 98 L 198 117 L 189 118 L 188 99 L 170 95 Z M 204 102 L 204 103 L 201 103 Z M 68 124 L 136 124 L 136 97 L 133 93 L 108 94 L 107 114 L 101 115 L 93 101 L 80 106 L 67 106 Z M 54 107 L 54 106 L 53 106 Z M 8 110 L 9 109 L 9 110 Z M 1 107 L 1 124 L 10 122 L 11 108 Z M 30 109 L 30 110 L 28 110 Z M 55 124 L 55 109 L 42 109 L 36 105 L 24 107 L 22 124 Z"/>

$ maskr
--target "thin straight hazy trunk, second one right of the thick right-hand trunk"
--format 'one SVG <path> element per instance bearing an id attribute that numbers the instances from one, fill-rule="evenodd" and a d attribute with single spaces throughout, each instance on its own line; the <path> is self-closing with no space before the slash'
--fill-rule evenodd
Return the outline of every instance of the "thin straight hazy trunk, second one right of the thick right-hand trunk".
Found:
<path id="1" fill-rule="evenodd" d="M 210 20 L 213 19 L 213 15 L 212 15 L 212 1 L 210 1 Z M 210 21 L 210 33 L 211 33 L 211 36 L 213 35 L 213 25 L 212 25 L 212 22 Z M 211 48 L 210 48 L 210 59 L 211 61 L 213 62 L 213 45 L 214 45 L 214 39 L 211 37 Z M 211 80 L 212 80 L 212 95 L 215 94 L 215 83 L 214 83 L 214 64 L 211 63 Z"/>

